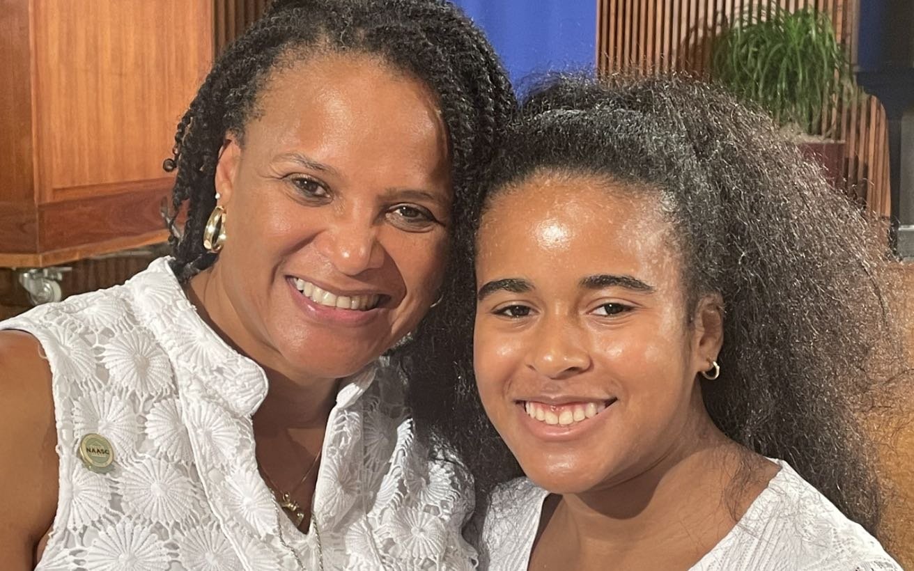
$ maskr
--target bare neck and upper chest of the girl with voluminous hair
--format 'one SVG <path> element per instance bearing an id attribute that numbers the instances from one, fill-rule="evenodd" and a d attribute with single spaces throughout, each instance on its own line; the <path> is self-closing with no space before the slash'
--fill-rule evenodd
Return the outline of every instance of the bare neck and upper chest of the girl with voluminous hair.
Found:
<path id="1" fill-rule="evenodd" d="M 688 449 L 672 449 L 647 471 L 609 488 L 566 494 L 544 512 L 530 568 L 688 568 L 728 534 L 777 469 L 713 424 Z M 747 464 L 747 460 L 749 464 Z M 765 474 L 762 463 L 774 467 Z M 737 491 L 732 482 L 749 468 Z M 739 492 L 737 497 L 734 491 Z M 545 521 L 547 518 L 547 521 Z M 545 555 L 545 558 L 539 559 Z M 549 563 L 550 560 L 552 563 Z"/>

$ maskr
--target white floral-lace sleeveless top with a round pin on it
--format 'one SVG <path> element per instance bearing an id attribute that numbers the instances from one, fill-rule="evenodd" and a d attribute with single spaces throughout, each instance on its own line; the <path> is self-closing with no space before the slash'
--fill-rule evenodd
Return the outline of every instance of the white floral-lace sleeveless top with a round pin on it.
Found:
<path id="1" fill-rule="evenodd" d="M 251 415 L 267 379 L 198 317 L 166 259 L 0 329 L 36 336 L 53 375 L 58 511 L 37 569 L 473 566 L 461 536 L 469 482 L 452 463 L 428 460 L 388 369 L 341 384 L 302 534 L 254 456 Z M 89 433 L 111 442 L 112 471 L 77 456 Z"/>

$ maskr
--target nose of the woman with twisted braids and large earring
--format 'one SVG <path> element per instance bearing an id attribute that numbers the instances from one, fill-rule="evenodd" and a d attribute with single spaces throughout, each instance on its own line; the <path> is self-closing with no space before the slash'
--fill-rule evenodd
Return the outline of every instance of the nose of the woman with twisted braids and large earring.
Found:
<path id="1" fill-rule="evenodd" d="M 384 248 L 378 241 L 374 220 L 366 217 L 340 217 L 330 231 L 319 238 L 319 249 L 334 268 L 356 276 L 384 264 Z"/>

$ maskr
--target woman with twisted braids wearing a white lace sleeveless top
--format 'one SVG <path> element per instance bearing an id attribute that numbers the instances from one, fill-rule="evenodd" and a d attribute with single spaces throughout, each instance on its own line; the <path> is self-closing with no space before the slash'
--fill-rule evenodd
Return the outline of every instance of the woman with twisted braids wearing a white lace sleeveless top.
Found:
<path id="1" fill-rule="evenodd" d="M 470 566 L 378 357 L 513 106 L 447 3 L 274 2 L 178 125 L 174 258 L 0 323 L 4 567 Z"/>

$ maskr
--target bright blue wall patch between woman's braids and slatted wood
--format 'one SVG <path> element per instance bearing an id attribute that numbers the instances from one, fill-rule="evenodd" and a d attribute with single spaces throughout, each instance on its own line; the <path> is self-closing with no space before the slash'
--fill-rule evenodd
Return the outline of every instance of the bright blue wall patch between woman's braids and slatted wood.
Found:
<path id="1" fill-rule="evenodd" d="M 596 68 L 596 0 L 452 0 L 481 26 L 524 90 L 531 75 Z"/>

